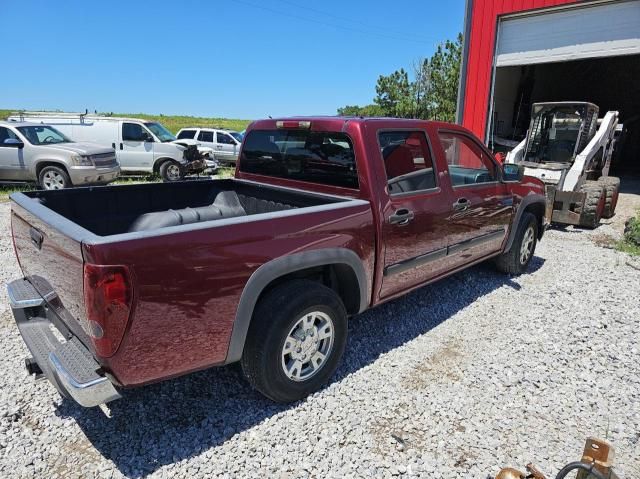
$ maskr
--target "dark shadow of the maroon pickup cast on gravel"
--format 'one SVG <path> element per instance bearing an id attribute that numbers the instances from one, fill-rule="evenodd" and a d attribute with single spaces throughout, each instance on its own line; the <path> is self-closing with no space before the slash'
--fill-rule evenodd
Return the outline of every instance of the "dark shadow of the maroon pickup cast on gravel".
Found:
<path id="1" fill-rule="evenodd" d="M 543 264 L 542 258 L 534 257 L 530 271 Z M 520 289 L 508 276 L 480 265 L 353 318 L 344 360 L 333 381 L 427 333 L 502 286 Z M 73 417 L 99 453 L 125 476 L 138 478 L 201 454 L 206 461 L 233 435 L 298 404 L 263 398 L 234 365 L 126 392 L 110 404 L 111 418 L 98 408 L 84 409 L 68 400 L 56 414 Z"/>

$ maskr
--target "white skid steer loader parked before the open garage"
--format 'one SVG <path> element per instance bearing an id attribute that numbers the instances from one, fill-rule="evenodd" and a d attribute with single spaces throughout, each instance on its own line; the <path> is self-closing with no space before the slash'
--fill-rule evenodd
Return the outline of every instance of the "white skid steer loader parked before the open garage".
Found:
<path id="1" fill-rule="evenodd" d="M 615 213 L 620 179 L 609 168 L 618 112 L 598 113 L 587 102 L 535 103 L 527 137 L 507 154 L 506 163 L 545 183 L 550 222 L 595 228 Z"/>

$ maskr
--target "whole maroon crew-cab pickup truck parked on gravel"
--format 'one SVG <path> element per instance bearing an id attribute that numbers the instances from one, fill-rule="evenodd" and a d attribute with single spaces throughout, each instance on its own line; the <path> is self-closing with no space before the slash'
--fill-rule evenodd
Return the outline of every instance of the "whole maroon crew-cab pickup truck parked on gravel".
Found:
<path id="1" fill-rule="evenodd" d="M 522 273 L 546 226 L 539 180 L 459 126 L 400 119 L 257 121 L 235 179 L 11 200 L 27 369 L 83 406 L 237 361 L 303 398 L 349 316 L 488 259 Z"/>

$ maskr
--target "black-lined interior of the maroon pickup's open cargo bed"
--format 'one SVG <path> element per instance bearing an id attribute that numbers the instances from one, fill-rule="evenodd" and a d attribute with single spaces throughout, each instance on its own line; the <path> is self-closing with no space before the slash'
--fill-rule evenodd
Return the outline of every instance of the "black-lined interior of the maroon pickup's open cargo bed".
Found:
<path id="1" fill-rule="evenodd" d="M 345 201 L 232 179 L 33 191 L 24 195 L 103 237 Z"/>

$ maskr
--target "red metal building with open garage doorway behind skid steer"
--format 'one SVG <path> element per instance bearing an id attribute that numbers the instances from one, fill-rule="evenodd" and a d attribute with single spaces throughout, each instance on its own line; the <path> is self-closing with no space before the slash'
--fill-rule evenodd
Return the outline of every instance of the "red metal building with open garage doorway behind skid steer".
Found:
<path id="1" fill-rule="evenodd" d="M 629 164 L 638 78 L 640 0 L 467 0 L 458 121 L 489 145 L 523 138 L 532 103 L 591 101 L 620 111 Z"/>

